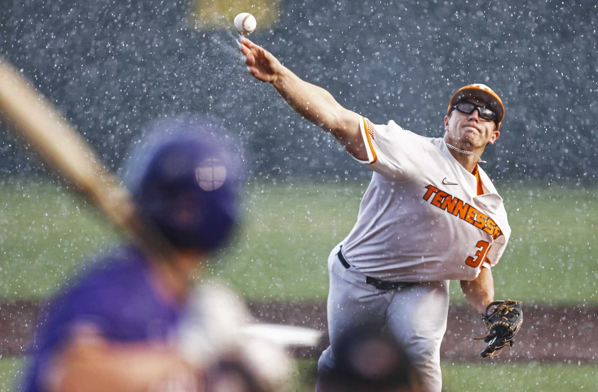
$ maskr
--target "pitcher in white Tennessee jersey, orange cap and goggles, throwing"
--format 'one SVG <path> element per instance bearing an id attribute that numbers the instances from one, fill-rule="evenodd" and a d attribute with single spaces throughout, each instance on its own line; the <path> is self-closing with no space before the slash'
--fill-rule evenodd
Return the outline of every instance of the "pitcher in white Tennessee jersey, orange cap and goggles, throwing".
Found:
<path id="1" fill-rule="evenodd" d="M 449 100 L 444 137 L 426 138 L 341 107 L 249 39 L 241 38 L 239 47 L 249 74 L 271 83 L 297 113 L 373 171 L 355 226 L 328 257 L 330 346 L 318 362 L 319 380 L 334 371 L 346 331 L 367 323 L 388 329 L 425 389 L 440 392 L 451 279 L 460 281 L 489 327 L 482 355 L 510 347 L 521 303 L 494 302 L 492 267 L 511 229 L 502 197 L 478 166 L 501 134 L 501 98 L 483 84 L 462 87 Z M 316 390 L 324 389 L 319 381 Z"/>

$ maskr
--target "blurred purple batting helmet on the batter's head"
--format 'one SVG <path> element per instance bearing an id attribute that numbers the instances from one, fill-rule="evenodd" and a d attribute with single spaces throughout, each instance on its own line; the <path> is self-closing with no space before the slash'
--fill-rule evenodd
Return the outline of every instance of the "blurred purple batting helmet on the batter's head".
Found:
<path id="1" fill-rule="evenodd" d="M 214 250 L 239 220 L 239 178 L 233 158 L 204 121 L 175 118 L 169 133 L 140 157 L 132 192 L 142 215 L 178 248 Z"/>

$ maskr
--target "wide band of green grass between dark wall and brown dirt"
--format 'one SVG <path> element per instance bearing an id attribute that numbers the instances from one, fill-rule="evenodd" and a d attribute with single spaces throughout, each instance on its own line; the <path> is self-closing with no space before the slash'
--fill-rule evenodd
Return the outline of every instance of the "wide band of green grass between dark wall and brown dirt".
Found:
<path id="1" fill-rule="evenodd" d="M 367 183 L 286 180 L 246 189 L 245 222 L 233 246 L 213 257 L 210 278 L 255 300 L 327 295 L 329 250 L 355 223 Z M 499 184 L 512 236 L 494 269 L 496 297 L 596 305 L 598 189 Z M 0 185 L 0 296 L 46 296 L 84 256 L 118 241 L 101 215 L 68 189 Z M 216 263 L 224 261 L 225 263 Z M 463 302 L 457 284 L 453 302 Z"/>

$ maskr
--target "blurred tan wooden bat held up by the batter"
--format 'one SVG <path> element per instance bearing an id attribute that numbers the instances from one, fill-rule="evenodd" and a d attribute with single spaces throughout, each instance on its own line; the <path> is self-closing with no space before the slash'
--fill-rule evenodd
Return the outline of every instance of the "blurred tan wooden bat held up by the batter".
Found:
<path id="1" fill-rule="evenodd" d="M 11 123 L 19 139 L 99 206 L 117 229 L 149 251 L 175 290 L 186 290 L 188 278 L 177 274 L 173 263 L 163 263 L 164 259 L 172 259 L 172 245 L 141 219 L 129 190 L 106 170 L 57 108 L 1 57 L 0 114 Z"/>

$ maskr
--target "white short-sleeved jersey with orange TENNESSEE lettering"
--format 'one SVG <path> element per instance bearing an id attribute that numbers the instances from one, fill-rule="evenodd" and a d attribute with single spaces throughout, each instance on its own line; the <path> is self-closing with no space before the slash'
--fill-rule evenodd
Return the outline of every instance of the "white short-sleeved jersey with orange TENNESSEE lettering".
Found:
<path id="1" fill-rule="evenodd" d="M 374 173 L 355 226 L 343 241 L 350 265 L 386 281 L 472 280 L 498 263 L 511 229 L 490 178 L 477 179 L 443 138 L 426 138 L 394 121 L 359 116 Z"/>

